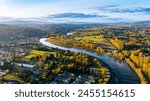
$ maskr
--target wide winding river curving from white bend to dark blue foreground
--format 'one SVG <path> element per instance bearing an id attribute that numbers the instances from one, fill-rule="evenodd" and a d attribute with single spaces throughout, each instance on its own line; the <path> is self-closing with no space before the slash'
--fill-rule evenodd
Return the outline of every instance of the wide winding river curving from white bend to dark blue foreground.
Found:
<path id="1" fill-rule="evenodd" d="M 62 46 L 54 45 L 47 41 L 47 38 L 42 38 L 39 40 L 44 46 L 57 48 L 60 50 L 69 50 L 72 52 L 82 52 L 90 56 L 96 57 L 103 61 L 111 70 L 111 79 L 108 83 L 111 84 L 139 84 L 139 78 L 136 73 L 130 68 L 130 66 L 124 62 L 111 57 L 107 54 L 98 55 L 97 53 L 89 52 L 84 49 L 76 48 L 65 48 Z"/>

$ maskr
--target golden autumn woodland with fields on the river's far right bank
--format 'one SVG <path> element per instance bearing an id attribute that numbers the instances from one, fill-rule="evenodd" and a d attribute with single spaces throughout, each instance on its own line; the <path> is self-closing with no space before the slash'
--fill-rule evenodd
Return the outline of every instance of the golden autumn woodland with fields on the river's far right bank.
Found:
<path id="1" fill-rule="evenodd" d="M 122 34 L 113 32 L 106 34 L 105 30 L 100 28 L 85 28 L 74 31 L 71 35 L 50 37 L 49 42 L 64 47 L 109 54 L 126 61 L 137 73 L 141 83 L 150 82 L 150 38 L 148 32 L 137 34 L 127 30 Z"/>

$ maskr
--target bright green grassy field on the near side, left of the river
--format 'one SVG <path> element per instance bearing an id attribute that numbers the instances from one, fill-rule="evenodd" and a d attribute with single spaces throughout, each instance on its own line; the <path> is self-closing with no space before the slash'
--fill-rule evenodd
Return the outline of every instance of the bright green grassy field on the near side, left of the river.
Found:
<path id="1" fill-rule="evenodd" d="M 53 55 L 56 55 L 56 52 L 47 52 L 47 51 L 32 50 L 27 56 L 23 57 L 23 59 L 24 60 L 30 60 L 32 57 L 36 57 L 38 55 L 44 55 L 44 54 L 53 54 Z"/>

